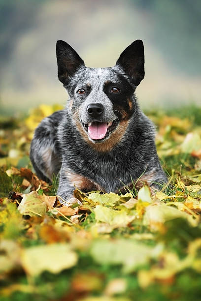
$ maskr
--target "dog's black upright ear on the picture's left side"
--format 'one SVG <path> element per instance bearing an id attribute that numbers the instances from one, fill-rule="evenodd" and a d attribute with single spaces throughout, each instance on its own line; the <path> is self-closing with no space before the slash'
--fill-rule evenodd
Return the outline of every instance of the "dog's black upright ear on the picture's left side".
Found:
<path id="1" fill-rule="evenodd" d="M 79 57 L 76 51 L 65 41 L 57 41 L 57 65 L 58 77 L 60 82 L 67 85 L 71 76 L 73 76 L 80 66 L 84 66 L 84 61 Z"/>

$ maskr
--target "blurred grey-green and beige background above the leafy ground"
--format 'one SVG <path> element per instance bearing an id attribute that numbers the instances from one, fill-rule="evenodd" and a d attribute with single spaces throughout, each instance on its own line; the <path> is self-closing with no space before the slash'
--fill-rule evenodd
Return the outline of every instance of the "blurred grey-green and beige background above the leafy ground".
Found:
<path id="1" fill-rule="evenodd" d="M 115 64 L 135 39 L 145 47 L 142 108 L 201 104 L 200 0 L 0 0 L 0 112 L 64 105 L 55 45 L 89 67 Z"/>

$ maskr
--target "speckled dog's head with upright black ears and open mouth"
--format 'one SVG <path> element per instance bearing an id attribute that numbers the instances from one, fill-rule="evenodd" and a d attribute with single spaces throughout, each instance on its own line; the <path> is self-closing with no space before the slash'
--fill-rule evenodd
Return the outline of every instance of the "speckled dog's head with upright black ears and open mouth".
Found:
<path id="1" fill-rule="evenodd" d="M 59 40 L 57 62 L 59 80 L 70 95 L 72 119 L 85 140 L 104 143 L 128 124 L 134 114 L 134 90 L 144 78 L 141 40 L 128 46 L 109 68 L 86 67 L 74 49 Z"/>

